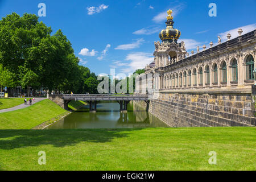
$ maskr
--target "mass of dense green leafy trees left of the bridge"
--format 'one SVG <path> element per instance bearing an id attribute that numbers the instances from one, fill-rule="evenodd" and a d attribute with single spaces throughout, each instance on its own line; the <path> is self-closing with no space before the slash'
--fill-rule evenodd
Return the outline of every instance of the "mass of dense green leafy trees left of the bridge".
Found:
<path id="1" fill-rule="evenodd" d="M 88 87 L 95 86 L 92 78 L 97 81 L 96 75 L 79 65 L 79 58 L 63 32 L 51 34 L 51 27 L 38 22 L 35 14 L 13 13 L 0 20 L 0 64 L 9 74 L 5 73 L 5 77 L 11 77 L 11 84 L 1 81 L 1 85 L 23 89 L 43 87 L 49 92 L 97 90 L 97 86 L 96 89 Z M 94 84 L 89 84 L 92 81 Z"/>

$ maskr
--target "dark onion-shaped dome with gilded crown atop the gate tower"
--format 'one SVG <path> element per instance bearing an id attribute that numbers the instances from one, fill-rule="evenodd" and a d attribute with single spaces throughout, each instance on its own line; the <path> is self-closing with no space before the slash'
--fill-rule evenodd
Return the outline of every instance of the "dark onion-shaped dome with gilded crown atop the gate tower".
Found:
<path id="1" fill-rule="evenodd" d="M 172 26 L 174 25 L 174 21 L 172 20 L 172 11 L 167 11 L 168 16 L 167 22 L 166 22 L 166 29 L 162 30 L 159 34 L 159 38 L 164 42 L 172 42 L 174 40 L 175 43 L 177 43 L 177 39 L 180 38 L 180 31 L 177 29 L 174 29 Z"/>

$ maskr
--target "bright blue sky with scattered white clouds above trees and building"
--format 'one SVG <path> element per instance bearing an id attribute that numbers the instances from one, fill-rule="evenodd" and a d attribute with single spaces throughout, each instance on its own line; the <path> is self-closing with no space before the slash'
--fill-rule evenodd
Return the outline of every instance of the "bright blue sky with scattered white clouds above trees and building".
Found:
<path id="1" fill-rule="evenodd" d="M 217 16 L 210 17 L 209 3 L 216 3 Z M 38 4 L 46 4 L 46 17 L 40 17 L 53 33 L 61 29 L 71 41 L 80 64 L 96 74 L 133 73 L 154 60 L 154 41 L 166 27 L 168 9 L 174 11 L 174 28 L 190 53 L 196 46 L 207 48 L 220 35 L 222 42 L 242 27 L 243 34 L 256 28 L 256 1 L 13 1 L 0 0 L 1 17 L 12 12 L 38 15 Z M 231 39 L 232 39 L 231 38 Z"/>

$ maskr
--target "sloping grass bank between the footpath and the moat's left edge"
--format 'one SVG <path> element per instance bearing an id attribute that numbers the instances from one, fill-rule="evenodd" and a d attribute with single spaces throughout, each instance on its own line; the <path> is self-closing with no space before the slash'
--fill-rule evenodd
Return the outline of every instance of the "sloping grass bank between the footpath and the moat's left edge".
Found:
<path id="1" fill-rule="evenodd" d="M 0 129 L 31 129 L 65 112 L 54 102 L 43 100 L 24 109 L 0 113 Z"/>

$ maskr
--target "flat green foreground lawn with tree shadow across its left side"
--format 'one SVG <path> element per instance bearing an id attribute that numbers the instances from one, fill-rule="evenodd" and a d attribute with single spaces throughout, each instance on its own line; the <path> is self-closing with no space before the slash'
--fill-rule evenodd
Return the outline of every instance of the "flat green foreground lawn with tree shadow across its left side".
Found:
<path id="1" fill-rule="evenodd" d="M 255 170 L 255 127 L 0 130 L 3 170 Z M 38 152 L 46 152 L 46 165 Z M 217 165 L 208 164 L 210 151 Z"/>

